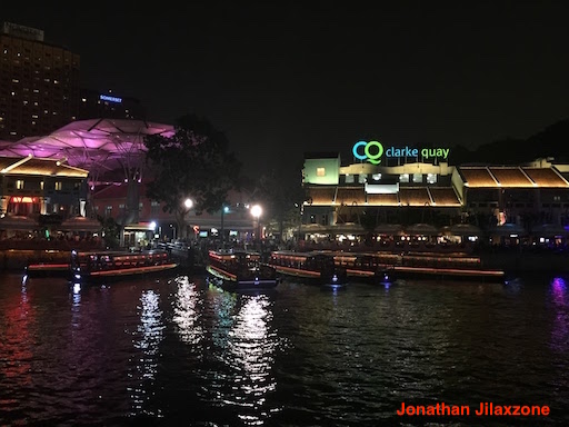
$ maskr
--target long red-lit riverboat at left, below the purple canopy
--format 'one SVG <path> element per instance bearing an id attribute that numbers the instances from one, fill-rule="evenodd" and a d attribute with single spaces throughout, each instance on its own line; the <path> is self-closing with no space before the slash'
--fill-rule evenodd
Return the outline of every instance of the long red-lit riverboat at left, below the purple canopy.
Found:
<path id="1" fill-rule="evenodd" d="M 170 271 L 178 264 L 166 250 L 71 251 L 73 281 L 110 281 L 126 277 Z"/>

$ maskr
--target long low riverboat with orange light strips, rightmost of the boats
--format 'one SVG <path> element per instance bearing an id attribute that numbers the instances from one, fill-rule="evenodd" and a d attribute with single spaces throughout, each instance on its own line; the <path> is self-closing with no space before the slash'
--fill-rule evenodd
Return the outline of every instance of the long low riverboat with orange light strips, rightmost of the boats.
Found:
<path id="1" fill-rule="evenodd" d="M 427 252 L 337 252 L 337 265 L 346 267 L 349 276 L 363 278 L 452 278 L 503 281 L 506 272 L 501 269 L 485 268 L 480 257 L 427 254 Z M 387 272 L 387 274 L 386 274 Z"/>

